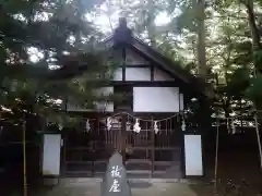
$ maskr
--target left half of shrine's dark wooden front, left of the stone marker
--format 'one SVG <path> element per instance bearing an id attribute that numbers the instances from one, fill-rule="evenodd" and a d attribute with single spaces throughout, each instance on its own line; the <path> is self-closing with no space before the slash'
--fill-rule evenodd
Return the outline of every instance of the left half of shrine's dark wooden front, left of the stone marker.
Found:
<path id="1" fill-rule="evenodd" d="M 64 138 L 63 172 L 67 176 L 100 176 L 114 151 L 122 149 L 121 115 L 90 119 L 91 130 L 85 130 L 85 121 L 80 127 L 68 131 Z"/>

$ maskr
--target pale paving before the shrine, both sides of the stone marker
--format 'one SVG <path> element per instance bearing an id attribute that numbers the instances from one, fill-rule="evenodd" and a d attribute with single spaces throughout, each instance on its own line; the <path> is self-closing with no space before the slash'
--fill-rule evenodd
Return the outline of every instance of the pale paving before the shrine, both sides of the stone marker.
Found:
<path id="1" fill-rule="evenodd" d="M 186 183 L 132 180 L 130 182 L 133 196 L 198 196 L 199 194 Z M 60 185 L 37 194 L 40 196 L 100 196 L 100 180 L 78 179 L 63 180 Z"/>

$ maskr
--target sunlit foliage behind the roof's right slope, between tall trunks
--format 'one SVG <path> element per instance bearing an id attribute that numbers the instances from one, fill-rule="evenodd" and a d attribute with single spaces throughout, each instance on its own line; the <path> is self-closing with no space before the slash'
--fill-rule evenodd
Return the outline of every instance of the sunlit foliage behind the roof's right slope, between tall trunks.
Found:
<path id="1" fill-rule="evenodd" d="M 111 3 L 112 10 L 122 10 L 139 34 L 163 54 L 180 61 L 191 73 L 198 66 L 198 19 L 195 0 L 183 1 L 119 1 Z M 261 14 L 261 1 L 254 0 L 255 14 Z M 154 20 L 165 11 L 170 22 L 157 26 Z M 110 15 L 109 15 L 110 16 Z M 205 1 L 205 49 L 206 76 L 217 89 L 219 111 L 234 111 L 233 105 L 250 99 L 247 91 L 253 83 L 254 64 L 261 63 L 261 52 L 253 51 L 252 34 L 247 5 L 241 0 Z M 258 21 L 259 24 L 259 21 Z M 215 77 L 214 77 L 215 76 Z M 212 77 L 212 78 L 210 78 Z M 221 86 L 222 85 L 222 86 Z M 257 89 L 258 90 L 258 89 Z M 252 91 L 252 90 L 251 90 Z M 245 102 L 245 101 L 242 101 Z M 248 101 L 246 101 L 248 102 Z M 245 103 L 241 106 L 245 106 Z"/>

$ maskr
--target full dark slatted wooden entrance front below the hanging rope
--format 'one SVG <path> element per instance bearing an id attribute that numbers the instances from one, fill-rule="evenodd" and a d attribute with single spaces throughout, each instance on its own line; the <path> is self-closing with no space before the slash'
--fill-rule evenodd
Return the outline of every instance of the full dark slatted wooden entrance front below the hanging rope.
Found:
<path id="1" fill-rule="evenodd" d="M 102 176 L 117 150 L 123 157 L 128 177 L 179 179 L 182 140 L 179 118 L 157 119 L 119 113 L 88 119 L 82 130 L 69 130 L 63 147 L 64 175 Z M 134 130 L 134 125 L 140 128 Z"/>

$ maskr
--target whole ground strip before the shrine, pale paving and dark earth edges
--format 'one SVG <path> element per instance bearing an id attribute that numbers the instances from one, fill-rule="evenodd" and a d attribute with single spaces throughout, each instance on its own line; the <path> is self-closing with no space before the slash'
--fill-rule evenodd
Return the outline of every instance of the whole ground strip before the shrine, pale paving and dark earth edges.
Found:
<path id="1" fill-rule="evenodd" d="M 239 168 L 237 168 L 239 170 Z M 261 183 L 257 181 L 259 177 L 258 170 L 246 169 L 245 172 L 236 172 L 227 170 L 225 177 L 218 181 L 218 194 L 222 196 L 257 196 L 259 194 L 259 185 Z M 235 170 L 236 171 L 236 170 Z M 223 175 L 224 172 L 221 172 Z M 240 177 L 246 174 L 245 182 L 241 182 Z M 249 175 L 249 177 L 247 177 Z M 13 175 L 14 176 L 14 175 Z M 228 176 L 228 177 L 227 177 Z M 229 177 L 230 176 L 230 177 Z M 252 176 L 252 177 L 251 177 Z M 11 176 L 9 176 L 11 177 Z M 9 179 L 8 177 L 8 179 Z M 5 180 L 8 180 L 5 179 Z M 257 179 L 257 180 L 255 180 Z M 229 182 L 229 183 L 228 183 Z M 3 194 L 1 188 L 1 195 L 3 196 L 22 196 L 21 191 L 14 193 L 14 183 L 9 183 L 9 192 Z M 135 180 L 130 183 L 132 195 L 134 196 L 213 196 L 214 183 L 210 183 L 209 180 L 198 181 L 198 183 L 178 183 L 168 182 L 165 180 L 157 181 L 141 181 Z M 17 184 L 16 184 L 17 185 Z M 240 187 L 238 187 L 240 186 Z M 7 186 L 8 187 L 8 186 Z M 16 186 L 17 187 L 17 186 Z M 99 196 L 100 183 L 95 179 L 74 179 L 73 181 L 61 181 L 59 186 L 36 188 L 36 186 L 29 185 L 29 196 Z M 37 189 L 37 191 L 33 191 Z"/>

